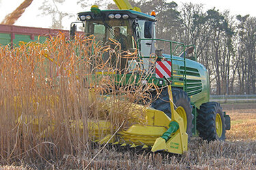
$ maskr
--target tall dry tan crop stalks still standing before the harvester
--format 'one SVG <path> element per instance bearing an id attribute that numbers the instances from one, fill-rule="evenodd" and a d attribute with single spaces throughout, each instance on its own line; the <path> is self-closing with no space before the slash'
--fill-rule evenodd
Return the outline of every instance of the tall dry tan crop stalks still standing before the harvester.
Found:
<path id="1" fill-rule="evenodd" d="M 69 41 L 63 34 L 44 44 L 0 47 L 1 163 L 82 155 L 94 138 L 88 120 L 109 120 L 111 133 L 122 122 L 122 128 L 130 126 L 134 113 L 143 120 L 143 107 L 134 104 L 147 107 L 151 84 L 134 86 L 148 75 L 137 77 L 141 70 L 135 67 L 119 69 L 121 61 L 137 56 L 119 48 L 115 41 L 102 46 L 94 37 Z M 117 60 L 103 61 L 102 55 Z M 117 78 L 119 71 L 123 76 Z"/>

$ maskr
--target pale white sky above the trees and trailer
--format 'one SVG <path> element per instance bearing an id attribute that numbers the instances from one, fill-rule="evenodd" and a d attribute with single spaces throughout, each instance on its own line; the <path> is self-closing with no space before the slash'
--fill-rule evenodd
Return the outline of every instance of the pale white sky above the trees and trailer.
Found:
<path id="1" fill-rule="evenodd" d="M 113 2 L 113 0 L 111 1 Z M 10 14 L 10 12 L 15 10 L 16 7 L 18 7 L 18 5 L 20 5 L 22 2 L 23 0 L 0 0 L 0 22 L 7 14 Z M 43 0 L 33 0 L 31 5 L 27 7 L 27 10 L 25 10 L 23 16 L 16 21 L 15 25 L 42 28 L 51 27 L 51 16 L 42 16 L 41 12 L 38 10 L 38 7 L 42 5 L 42 2 Z M 216 7 L 216 9 L 220 11 L 229 10 L 231 15 L 241 14 L 244 16 L 246 14 L 250 14 L 250 16 L 256 17 L 255 0 L 176 0 L 175 2 L 178 5 L 188 2 L 202 3 L 205 9 Z M 63 19 L 64 29 L 69 29 L 70 23 L 76 20 L 76 14 L 88 9 L 82 9 L 74 0 L 66 0 L 66 3 L 59 6 L 59 10 L 74 14 L 74 18 L 66 17 Z"/>

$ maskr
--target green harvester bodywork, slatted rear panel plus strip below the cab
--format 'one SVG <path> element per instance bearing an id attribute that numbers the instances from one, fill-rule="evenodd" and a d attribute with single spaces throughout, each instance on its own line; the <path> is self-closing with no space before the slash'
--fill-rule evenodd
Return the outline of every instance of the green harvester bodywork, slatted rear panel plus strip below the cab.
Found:
<path id="1" fill-rule="evenodd" d="M 186 72 L 184 71 L 184 61 L 179 56 L 171 56 L 163 54 L 167 61 L 171 61 L 173 72 L 172 77 L 169 78 L 172 82 L 172 87 L 182 88 L 187 92 L 190 101 L 199 109 L 202 103 L 208 102 L 210 99 L 210 84 L 208 80 L 208 71 L 203 65 L 192 61 L 188 58 L 186 62 Z M 186 75 L 184 75 L 186 73 Z M 114 75 L 115 80 L 119 82 L 122 75 Z M 128 82 L 139 82 L 142 75 L 127 74 L 126 79 L 122 79 L 122 84 L 129 84 Z M 143 79 L 144 80 L 144 79 Z M 164 78 L 156 78 L 153 74 L 150 78 L 147 78 L 147 83 L 154 83 L 158 87 L 167 86 Z M 159 84 L 162 80 L 163 84 Z M 186 81 L 185 81 L 186 80 Z"/>

